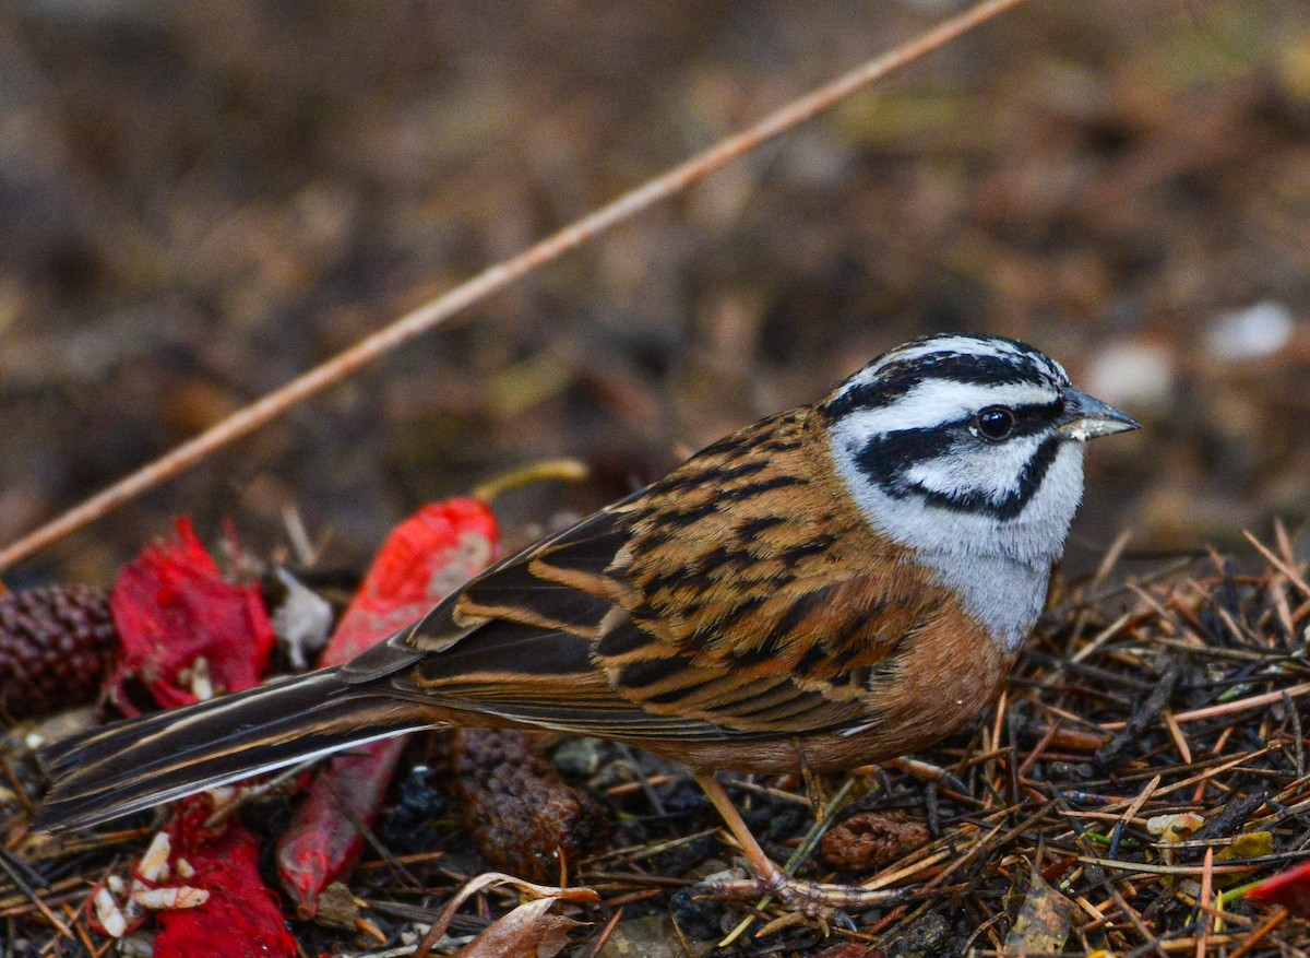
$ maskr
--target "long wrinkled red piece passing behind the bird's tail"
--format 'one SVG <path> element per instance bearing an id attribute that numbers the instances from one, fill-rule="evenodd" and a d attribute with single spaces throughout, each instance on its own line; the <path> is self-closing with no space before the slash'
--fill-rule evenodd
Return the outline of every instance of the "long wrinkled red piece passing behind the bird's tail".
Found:
<path id="1" fill-rule="evenodd" d="M 431 503 L 397 526 L 342 616 L 320 664 L 348 662 L 417 621 L 495 556 L 495 516 L 481 499 Z M 405 739 L 375 742 L 331 759 L 317 775 L 278 843 L 282 885 L 312 917 L 318 896 L 363 851 L 355 822 L 377 818 Z"/>

